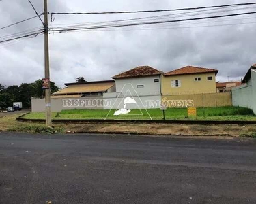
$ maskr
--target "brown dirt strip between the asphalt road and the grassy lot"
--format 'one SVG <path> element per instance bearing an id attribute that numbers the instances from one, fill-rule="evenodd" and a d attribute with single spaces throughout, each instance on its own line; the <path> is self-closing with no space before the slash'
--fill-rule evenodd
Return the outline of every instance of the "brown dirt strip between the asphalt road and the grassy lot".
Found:
<path id="1" fill-rule="evenodd" d="M 68 131 L 92 133 L 132 133 L 150 135 L 235 136 L 256 132 L 256 125 L 198 125 L 198 124 L 66 124 Z"/>

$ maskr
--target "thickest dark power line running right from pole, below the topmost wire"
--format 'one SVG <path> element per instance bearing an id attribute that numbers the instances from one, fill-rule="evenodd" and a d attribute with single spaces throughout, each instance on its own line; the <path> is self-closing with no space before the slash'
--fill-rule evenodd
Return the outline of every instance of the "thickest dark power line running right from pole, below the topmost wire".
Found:
<path id="1" fill-rule="evenodd" d="M 104 28 L 115 28 L 115 27 L 132 27 L 138 25 L 145 25 L 145 24 L 164 24 L 169 22 L 183 22 L 183 21 L 193 21 L 193 20 L 203 20 L 203 19 L 212 19 L 212 18 L 225 18 L 229 16 L 241 16 L 241 15 L 248 15 L 248 14 L 256 14 L 256 12 L 246 12 L 246 13 L 239 13 L 239 14 L 227 14 L 221 16 L 207 16 L 201 18 L 185 18 L 180 20 L 164 20 L 164 21 L 154 21 L 154 22 L 139 22 L 139 23 L 130 23 L 130 24 L 111 24 L 111 25 L 103 25 L 103 26 L 94 26 L 94 27 L 81 27 L 81 28 L 71 28 L 71 29 L 52 29 L 51 31 L 79 31 L 79 30 L 87 30 L 87 29 L 104 29 Z"/>

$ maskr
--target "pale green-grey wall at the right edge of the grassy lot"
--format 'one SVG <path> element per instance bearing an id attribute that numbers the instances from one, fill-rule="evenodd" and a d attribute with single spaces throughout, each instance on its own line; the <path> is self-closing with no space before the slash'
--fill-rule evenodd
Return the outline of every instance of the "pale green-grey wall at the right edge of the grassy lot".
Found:
<path id="1" fill-rule="evenodd" d="M 232 88 L 234 106 L 248 107 L 256 114 L 256 71 L 251 70 L 251 79 L 246 85 Z"/>

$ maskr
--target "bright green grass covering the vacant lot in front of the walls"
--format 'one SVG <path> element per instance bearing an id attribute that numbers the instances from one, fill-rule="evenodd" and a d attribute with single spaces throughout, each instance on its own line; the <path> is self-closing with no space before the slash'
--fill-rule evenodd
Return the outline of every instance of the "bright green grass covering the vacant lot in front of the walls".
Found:
<path id="1" fill-rule="evenodd" d="M 113 116 L 115 110 L 73 109 L 53 112 L 53 119 L 122 119 L 122 120 L 162 120 L 160 109 L 132 109 L 128 115 Z M 150 115 L 150 116 L 149 116 Z M 30 113 L 24 116 L 28 119 L 45 119 L 44 113 Z M 169 108 L 165 111 L 167 120 L 256 120 L 253 111 L 244 107 L 205 107 L 197 108 L 197 117 L 187 116 L 186 108 Z"/>

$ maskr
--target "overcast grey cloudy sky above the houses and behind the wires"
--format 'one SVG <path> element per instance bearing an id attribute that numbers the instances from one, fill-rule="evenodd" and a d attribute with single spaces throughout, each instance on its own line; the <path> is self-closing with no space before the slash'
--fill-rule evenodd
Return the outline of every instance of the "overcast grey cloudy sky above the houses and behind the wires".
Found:
<path id="1" fill-rule="evenodd" d="M 31 1 L 36 10 L 42 13 L 43 0 Z M 246 2 L 250 1 L 51 0 L 48 3 L 48 12 L 157 10 Z M 256 11 L 256 5 L 250 7 L 250 10 L 231 10 L 229 14 Z M 223 14 L 211 14 L 211 12 L 202 16 Z M 181 12 L 56 15 L 52 27 L 177 13 Z M 0 27 L 31 16 L 35 16 L 35 13 L 28 1 L 0 1 Z M 173 16 L 168 19 L 195 17 L 197 16 Z M 239 80 L 245 75 L 248 68 L 256 63 L 255 17 L 256 14 L 251 14 L 212 21 L 176 22 L 104 31 L 51 33 L 49 39 L 51 80 L 60 87 L 63 87 L 66 82 L 74 82 L 75 78 L 79 76 L 84 76 L 86 80 L 110 80 L 111 76 L 140 65 L 150 65 L 161 71 L 195 65 L 218 69 L 217 80 L 225 81 L 228 78 L 229 80 Z M 221 24 L 233 25 L 220 26 Z M 212 25 L 214 26 L 209 27 Z M 0 39 L 5 35 L 41 27 L 40 20 L 35 18 L 8 29 L 1 29 Z M 0 84 L 19 85 L 40 78 L 44 78 L 43 35 L 0 44 Z"/>

